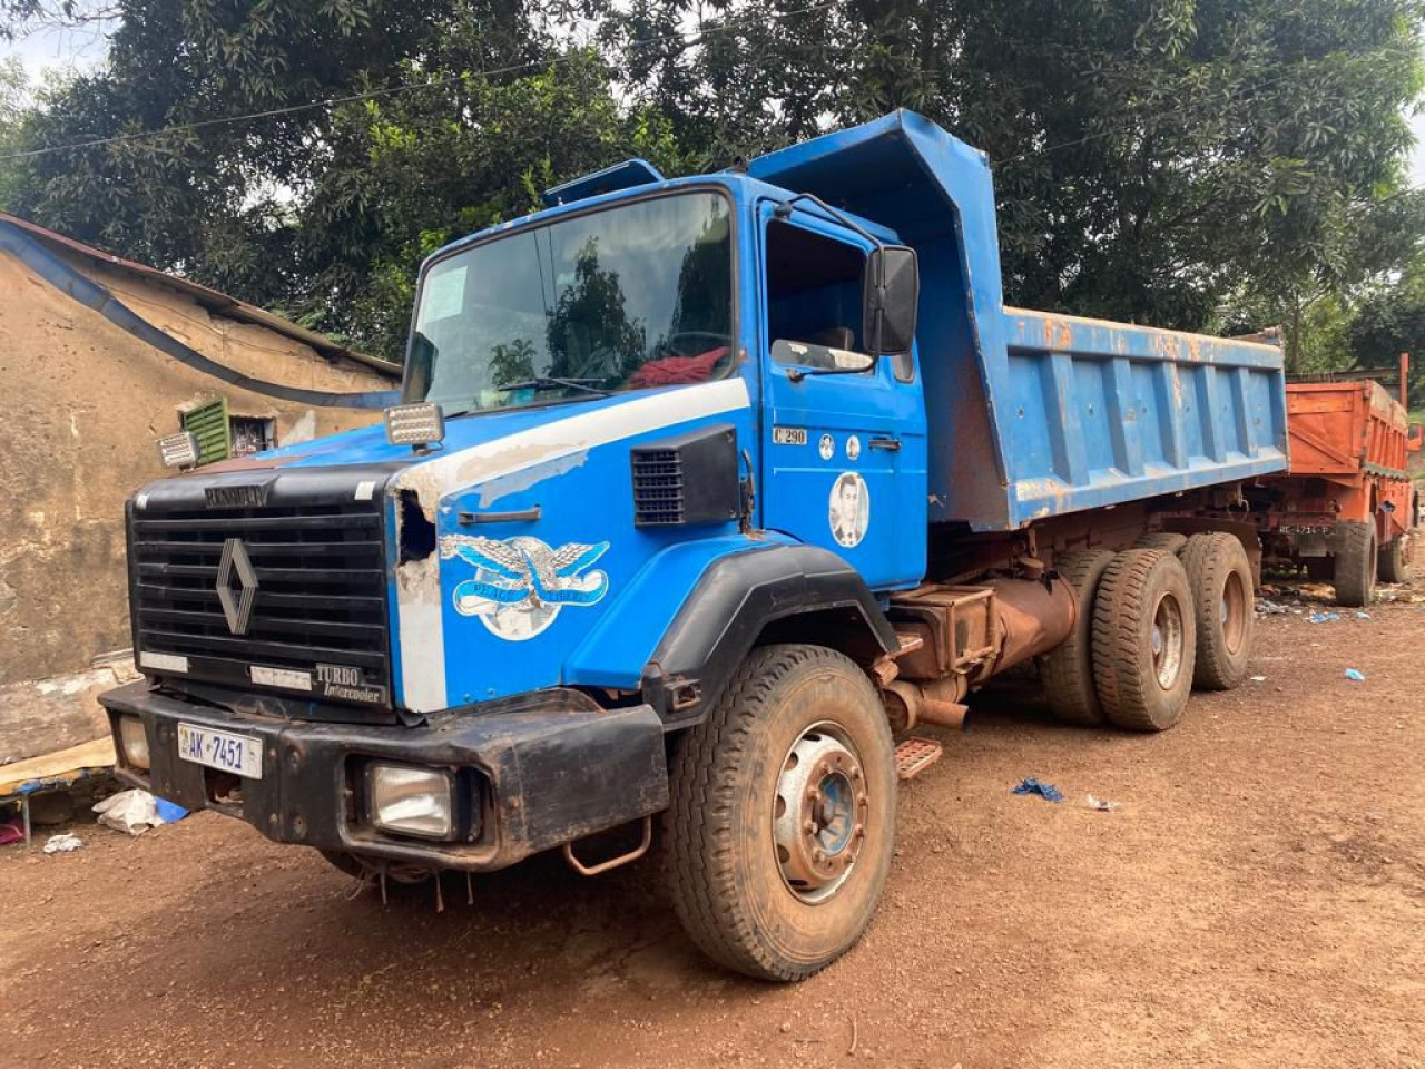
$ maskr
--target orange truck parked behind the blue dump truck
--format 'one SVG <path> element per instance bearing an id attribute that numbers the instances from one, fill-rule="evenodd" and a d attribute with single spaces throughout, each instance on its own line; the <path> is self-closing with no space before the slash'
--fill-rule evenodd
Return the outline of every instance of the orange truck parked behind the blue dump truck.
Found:
<path id="1" fill-rule="evenodd" d="M 1377 580 L 1405 582 L 1421 523 L 1408 472 L 1421 425 L 1378 382 L 1294 382 L 1287 433 L 1287 473 L 1245 492 L 1265 557 L 1305 566 L 1344 606 L 1369 603 Z"/>

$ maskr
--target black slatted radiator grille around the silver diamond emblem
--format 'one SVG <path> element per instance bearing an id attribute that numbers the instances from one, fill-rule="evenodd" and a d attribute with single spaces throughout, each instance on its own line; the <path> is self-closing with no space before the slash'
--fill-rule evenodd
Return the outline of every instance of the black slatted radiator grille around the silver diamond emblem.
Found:
<path id="1" fill-rule="evenodd" d="M 229 539 L 241 540 L 256 576 L 241 634 L 218 596 Z M 389 696 L 385 550 L 375 505 L 134 512 L 130 582 L 138 650 L 187 657 L 190 677 L 251 687 L 251 666 L 311 673 L 332 664 L 359 668 L 365 687 Z"/>

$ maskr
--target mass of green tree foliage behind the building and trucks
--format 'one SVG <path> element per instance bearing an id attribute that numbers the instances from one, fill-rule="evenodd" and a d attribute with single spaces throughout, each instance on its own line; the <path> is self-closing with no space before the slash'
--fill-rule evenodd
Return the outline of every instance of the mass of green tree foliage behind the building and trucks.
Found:
<path id="1" fill-rule="evenodd" d="M 108 67 L 0 110 L 0 145 L 275 114 L 0 162 L 0 205 L 399 359 L 422 258 L 547 185 L 628 155 L 718 168 L 911 107 L 989 154 L 1007 299 L 1280 324 L 1308 366 L 1365 345 L 1348 326 L 1418 257 L 1422 7 L 114 0 Z M 0 33 L 46 9 L 64 17 L 0 0 Z"/>

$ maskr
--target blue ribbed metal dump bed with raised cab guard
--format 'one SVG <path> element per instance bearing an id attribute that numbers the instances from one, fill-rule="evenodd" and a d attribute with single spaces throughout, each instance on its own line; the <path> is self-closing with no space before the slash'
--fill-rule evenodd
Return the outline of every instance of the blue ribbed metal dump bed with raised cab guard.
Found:
<path id="1" fill-rule="evenodd" d="M 921 259 L 931 519 L 1036 519 L 1287 468 L 1273 346 L 1003 305 L 989 160 L 909 111 L 750 172 L 892 228 Z"/>

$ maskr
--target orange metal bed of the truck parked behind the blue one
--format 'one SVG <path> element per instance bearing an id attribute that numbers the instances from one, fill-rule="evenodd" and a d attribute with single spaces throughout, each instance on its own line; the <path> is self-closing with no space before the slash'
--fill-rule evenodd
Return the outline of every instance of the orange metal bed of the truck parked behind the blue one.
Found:
<path id="1" fill-rule="evenodd" d="M 1292 475 L 1405 475 L 1409 418 L 1378 382 L 1287 386 Z"/>

